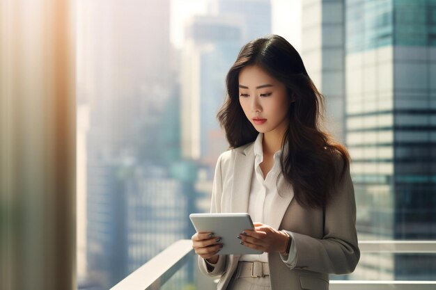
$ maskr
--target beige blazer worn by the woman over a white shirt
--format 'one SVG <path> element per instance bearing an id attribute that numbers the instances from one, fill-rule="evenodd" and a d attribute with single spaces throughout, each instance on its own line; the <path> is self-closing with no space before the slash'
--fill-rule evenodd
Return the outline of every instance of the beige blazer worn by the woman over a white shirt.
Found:
<path id="1" fill-rule="evenodd" d="M 212 188 L 212 213 L 247 212 L 254 143 L 219 156 Z M 288 231 L 297 250 L 296 262 L 286 265 L 278 252 L 268 253 L 272 290 L 329 289 L 328 273 L 354 271 L 360 252 L 356 234 L 356 204 L 350 171 L 345 172 L 338 191 L 325 210 L 304 209 L 293 200 L 293 188 L 278 184 L 274 199 L 274 222 L 270 226 Z M 198 266 L 205 275 L 220 276 L 217 289 L 226 289 L 238 266 L 240 255 L 221 255 L 209 272 L 205 260 Z"/>

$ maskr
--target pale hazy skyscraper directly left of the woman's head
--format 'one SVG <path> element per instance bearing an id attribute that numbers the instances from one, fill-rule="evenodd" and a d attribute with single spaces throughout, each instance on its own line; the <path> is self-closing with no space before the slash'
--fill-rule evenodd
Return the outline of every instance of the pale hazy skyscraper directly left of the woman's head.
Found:
<path id="1" fill-rule="evenodd" d="M 215 115 L 226 96 L 226 72 L 240 49 L 241 26 L 235 17 L 196 16 L 186 26 L 182 51 L 182 156 L 215 168 L 226 144 Z M 214 144 L 215 143 L 215 144 Z M 211 151 L 215 148 L 214 151 Z"/>

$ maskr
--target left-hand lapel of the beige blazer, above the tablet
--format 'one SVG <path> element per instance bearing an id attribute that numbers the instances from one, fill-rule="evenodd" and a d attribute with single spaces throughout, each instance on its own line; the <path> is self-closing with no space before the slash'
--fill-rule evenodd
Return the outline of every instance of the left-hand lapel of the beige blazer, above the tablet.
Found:
<path id="1" fill-rule="evenodd" d="M 254 152 L 251 143 L 244 150 L 235 150 L 233 163 L 233 186 L 231 192 L 231 212 L 248 212 L 251 176 L 254 169 Z"/>

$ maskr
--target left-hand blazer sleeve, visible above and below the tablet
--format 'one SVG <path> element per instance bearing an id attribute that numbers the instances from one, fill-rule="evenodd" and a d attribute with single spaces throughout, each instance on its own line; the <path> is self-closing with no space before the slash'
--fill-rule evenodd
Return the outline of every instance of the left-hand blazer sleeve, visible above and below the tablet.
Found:
<path id="1" fill-rule="evenodd" d="M 225 153 L 225 152 L 224 152 Z M 210 204 L 210 213 L 221 212 L 221 195 L 222 195 L 222 168 L 221 162 L 223 154 L 218 157 L 217 166 L 215 167 L 215 176 L 212 185 L 212 198 Z M 210 264 L 202 257 L 198 256 L 198 267 L 201 273 L 214 277 L 224 273 L 226 268 L 226 255 L 219 255 L 217 264 Z"/>

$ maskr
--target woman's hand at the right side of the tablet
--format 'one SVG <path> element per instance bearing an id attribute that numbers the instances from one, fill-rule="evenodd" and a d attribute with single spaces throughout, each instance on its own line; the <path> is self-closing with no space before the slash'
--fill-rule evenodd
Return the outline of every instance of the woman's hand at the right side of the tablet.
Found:
<path id="1" fill-rule="evenodd" d="M 245 234 L 244 234 L 245 232 Z M 254 230 L 245 230 L 238 237 L 242 245 L 248 248 L 261 250 L 263 252 L 285 252 L 288 245 L 288 235 L 264 225 L 263 223 L 254 223 Z"/>

